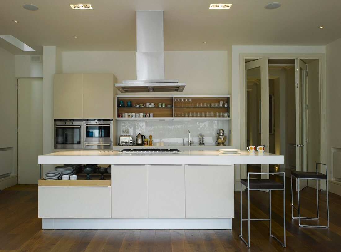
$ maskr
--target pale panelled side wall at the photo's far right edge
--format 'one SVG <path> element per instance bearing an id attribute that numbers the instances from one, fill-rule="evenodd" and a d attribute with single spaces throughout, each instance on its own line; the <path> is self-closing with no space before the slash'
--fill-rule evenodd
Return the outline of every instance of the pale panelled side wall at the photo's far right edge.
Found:
<path id="1" fill-rule="evenodd" d="M 341 38 L 326 45 L 326 82 L 327 82 L 327 165 L 329 178 L 333 178 L 333 153 L 341 152 Z M 330 191 L 341 195 L 341 183 L 331 181 Z"/>

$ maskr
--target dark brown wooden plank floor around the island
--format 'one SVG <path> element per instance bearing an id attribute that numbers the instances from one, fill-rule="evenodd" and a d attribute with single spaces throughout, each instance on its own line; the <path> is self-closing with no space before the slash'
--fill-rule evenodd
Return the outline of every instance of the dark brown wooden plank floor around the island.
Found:
<path id="1" fill-rule="evenodd" d="M 274 176 L 275 177 L 275 176 Z M 277 178 L 278 179 L 278 178 Z M 286 181 L 286 248 L 269 237 L 268 222 L 251 222 L 251 251 L 340 251 L 341 196 L 329 194 L 330 228 L 302 228 L 291 219 L 290 180 Z M 315 211 L 316 190 L 301 191 L 302 212 Z M 320 197 L 321 221 L 325 224 L 326 193 Z M 268 213 L 268 193 L 251 192 L 251 218 Z M 295 196 L 296 198 L 296 196 Z M 243 206 L 246 210 L 246 193 Z M 272 232 L 282 234 L 281 192 L 271 193 Z M 38 186 L 16 185 L 0 193 L 0 251 L 247 251 L 239 239 L 240 193 L 235 192 L 232 230 L 42 230 L 38 218 Z M 246 214 L 246 211 L 243 213 Z M 243 216 L 246 218 L 246 215 Z M 246 228 L 246 223 L 243 225 Z M 243 229 L 246 231 L 246 229 Z M 246 236 L 247 234 L 244 233 Z"/>

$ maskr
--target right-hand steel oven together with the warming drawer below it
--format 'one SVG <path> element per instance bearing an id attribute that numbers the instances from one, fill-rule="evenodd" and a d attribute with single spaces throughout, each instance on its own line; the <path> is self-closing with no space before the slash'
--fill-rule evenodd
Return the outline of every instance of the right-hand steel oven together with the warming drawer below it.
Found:
<path id="1" fill-rule="evenodd" d="M 113 119 L 84 119 L 84 149 L 113 149 Z"/>

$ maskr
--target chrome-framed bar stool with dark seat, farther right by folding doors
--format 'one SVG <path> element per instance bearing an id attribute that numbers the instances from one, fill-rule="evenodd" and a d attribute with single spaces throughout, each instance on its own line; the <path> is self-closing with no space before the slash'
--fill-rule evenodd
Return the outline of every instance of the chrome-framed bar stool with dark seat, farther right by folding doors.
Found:
<path id="1" fill-rule="evenodd" d="M 324 165 L 326 167 L 326 174 L 317 171 L 317 165 Z M 294 206 L 293 203 L 293 177 L 297 179 L 297 201 L 298 201 L 298 208 Z M 299 181 L 300 179 L 311 179 L 316 180 L 316 198 L 317 198 L 317 217 L 301 217 L 300 215 L 300 202 L 299 202 Z M 326 180 L 326 189 L 327 189 L 327 226 L 320 226 L 320 225 L 301 225 L 301 219 L 308 219 L 308 220 L 318 220 L 320 218 L 319 211 L 318 211 L 318 180 Z M 322 189 L 321 189 L 322 190 Z M 294 216 L 294 208 L 298 211 L 298 216 Z M 292 171 L 291 172 L 291 217 L 292 219 L 298 219 L 298 225 L 300 227 L 324 227 L 329 228 L 329 201 L 328 201 L 328 167 L 326 164 L 316 163 L 316 172 L 310 171 Z"/>

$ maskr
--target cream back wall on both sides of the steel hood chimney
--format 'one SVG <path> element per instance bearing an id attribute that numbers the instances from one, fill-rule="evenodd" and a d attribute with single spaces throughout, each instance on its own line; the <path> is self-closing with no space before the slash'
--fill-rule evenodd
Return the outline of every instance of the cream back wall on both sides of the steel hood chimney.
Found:
<path id="1" fill-rule="evenodd" d="M 229 94 L 227 51 L 164 52 L 165 79 L 185 82 L 182 94 Z M 63 52 L 63 73 L 114 73 L 136 79 L 135 52 Z M 172 93 L 173 94 L 173 93 Z"/>

